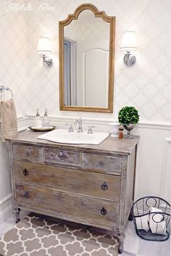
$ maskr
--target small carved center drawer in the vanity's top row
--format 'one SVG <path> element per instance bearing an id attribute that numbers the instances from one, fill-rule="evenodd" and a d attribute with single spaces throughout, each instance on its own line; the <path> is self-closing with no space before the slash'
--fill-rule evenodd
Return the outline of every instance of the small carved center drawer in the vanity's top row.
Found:
<path id="1" fill-rule="evenodd" d="M 80 152 L 73 152 L 65 149 L 45 148 L 45 161 L 61 165 L 80 166 Z"/>

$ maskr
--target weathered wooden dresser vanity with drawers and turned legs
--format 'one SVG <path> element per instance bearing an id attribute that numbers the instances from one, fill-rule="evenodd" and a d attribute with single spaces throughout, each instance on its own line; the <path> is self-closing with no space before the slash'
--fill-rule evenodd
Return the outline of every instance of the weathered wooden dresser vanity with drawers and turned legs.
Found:
<path id="1" fill-rule="evenodd" d="M 20 208 L 110 231 L 123 249 L 133 204 L 138 136 L 57 144 L 25 131 L 7 139 L 16 221 Z"/>

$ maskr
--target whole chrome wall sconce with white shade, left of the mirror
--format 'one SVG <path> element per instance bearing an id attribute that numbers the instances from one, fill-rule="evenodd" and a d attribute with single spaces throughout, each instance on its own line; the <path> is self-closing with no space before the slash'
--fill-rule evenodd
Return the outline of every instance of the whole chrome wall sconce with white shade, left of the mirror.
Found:
<path id="1" fill-rule="evenodd" d="M 38 54 L 41 54 L 43 58 L 43 65 L 44 67 L 51 67 L 52 66 L 52 59 L 46 54 L 51 54 L 51 45 L 50 40 L 47 37 L 40 37 L 38 39 Z"/>

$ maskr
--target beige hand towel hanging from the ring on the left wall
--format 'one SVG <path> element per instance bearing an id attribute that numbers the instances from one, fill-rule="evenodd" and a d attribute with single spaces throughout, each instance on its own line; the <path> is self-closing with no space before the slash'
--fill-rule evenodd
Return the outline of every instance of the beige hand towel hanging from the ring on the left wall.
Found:
<path id="1" fill-rule="evenodd" d="M 4 142 L 7 136 L 17 134 L 17 114 L 14 100 L 9 99 L 1 102 L 1 141 Z"/>

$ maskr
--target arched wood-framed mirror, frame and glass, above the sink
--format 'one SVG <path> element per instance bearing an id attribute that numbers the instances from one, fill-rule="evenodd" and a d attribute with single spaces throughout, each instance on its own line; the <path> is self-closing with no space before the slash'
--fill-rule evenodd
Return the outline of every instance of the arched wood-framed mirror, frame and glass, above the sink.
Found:
<path id="1" fill-rule="evenodd" d="M 113 112 L 115 17 L 93 4 L 59 21 L 60 110 Z"/>

